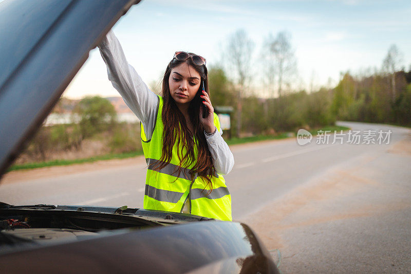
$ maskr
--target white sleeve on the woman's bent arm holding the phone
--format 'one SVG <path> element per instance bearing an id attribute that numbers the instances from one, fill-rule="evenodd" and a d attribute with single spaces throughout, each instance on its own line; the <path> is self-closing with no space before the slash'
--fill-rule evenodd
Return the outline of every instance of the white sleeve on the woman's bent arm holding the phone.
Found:
<path id="1" fill-rule="evenodd" d="M 234 156 L 228 144 L 222 138 L 222 130 L 216 132 L 213 136 L 207 136 L 206 140 L 214 160 L 214 167 L 217 173 L 222 175 L 229 174 L 234 166 Z"/>

